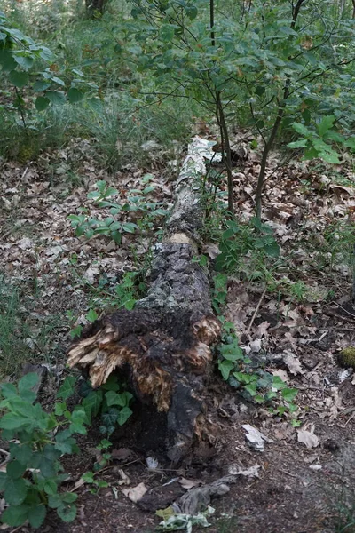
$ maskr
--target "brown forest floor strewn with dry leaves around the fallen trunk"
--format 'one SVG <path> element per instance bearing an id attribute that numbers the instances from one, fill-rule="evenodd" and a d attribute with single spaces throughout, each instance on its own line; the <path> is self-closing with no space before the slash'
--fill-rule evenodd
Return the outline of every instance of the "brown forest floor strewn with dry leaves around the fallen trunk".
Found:
<path id="1" fill-rule="evenodd" d="M 258 160 L 251 154 L 234 170 L 235 207 L 242 221 L 251 219 L 255 209 Z M 145 187 L 141 180 L 147 173 L 154 186 L 149 199 L 166 208 L 172 203 L 173 179 L 159 155 L 152 155 L 146 169 L 132 164 L 108 176 L 96 168 L 90 144 L 73 139 L 70 147 L 36 163 L 1 164 L 0 309 L 3 316 L 7 313 L 7 330 L 3 320 L 0 331 L 2 380 L 19 375 L 26 362 L 46 366 L 43 406 L 51 405 L 67 373 L 73 322 L 84 324 L 91 308 L 99 312 L 115 306 L 122 294 L 117 296 L 114 288 L 125 272 L 145 264 L 159 229 L 158 223 L 150 235 L 124 234 L 117 246 L 102 236 L 76 237 L 67 216 L 85 207 L 102 218 L 102 210 L 87 198 L 95 182 L 106 179 L 125 197 Z M 80 438 L 82 453 L 65 461 L 67 489 L 78 494 L 77 517 L 64 524 L 50 513 L 41 531 L 153 532 L 162 520 L 157 509 L 167 508 L 188 489 L 253 466 L 253 473 L 235 476 L 229 492 L 213 497 L 209 528 L 193 526 L 193 532 L 355 531 L 355 376 L 337 362 L 344 347 L 355 345 L 351 254 L 347 257 L 353 243 L 354 184 L 351 161 L 336 167 L 298 161 L 279 165 L 274 155 L 264 221 L 274 230 L 280 258 L 260 265 L 257 278 L 249 254 L 229 276 L 224 314 L 256 364 L 298 389 L 300 426 L 248 402 L 216 370 L 209 383 L 209 419 L 217 428 L 212 447 L 197 447 L 187 465 L 171 470 L 154 445 L 154 426 L 145 446 L 139 446 L 133 415 L 111 437 L 112 459 L 99 473 L 108 487 L 92 494 L 89 485 L 78 482 L 98 453 L 101 437 L 92 429 Z M 137 222 L 129 216 L 124 214 L 124 220 Z M 216 251 L 213 241 L 202 250 L 210 259 Z M 245 424 L 268 437 L 264 451 L 248 446 Z M 147 457 L 156 459 L 156 467 L 147 466 Z M 140 483 L 149 497 L 134 503 L 122 489 Z"/>

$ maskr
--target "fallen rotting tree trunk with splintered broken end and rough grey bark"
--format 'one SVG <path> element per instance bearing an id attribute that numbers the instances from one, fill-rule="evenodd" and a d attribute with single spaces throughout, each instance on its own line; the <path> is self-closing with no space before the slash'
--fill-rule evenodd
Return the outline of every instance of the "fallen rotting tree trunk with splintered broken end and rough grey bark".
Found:
<path id="1" fill-rule="evenodd" d="M 207 141 L 195 138 L 177 179 L 162 243 L 154 247 L 146 298 L 133 311 L 91 324 L 70 346 L 67 359 L 70 367 L 89 371 L 94 387 L 113 371 L 128 369 L 138 399 L 167 414 L 167 455 L 176 463 L 201 434 L 197 418 L 204 410 L 210 346 L 221 329 L 212 313 L 208 272 L 193 260 L 203 219 L 198 180 L 207 156 Z"/>

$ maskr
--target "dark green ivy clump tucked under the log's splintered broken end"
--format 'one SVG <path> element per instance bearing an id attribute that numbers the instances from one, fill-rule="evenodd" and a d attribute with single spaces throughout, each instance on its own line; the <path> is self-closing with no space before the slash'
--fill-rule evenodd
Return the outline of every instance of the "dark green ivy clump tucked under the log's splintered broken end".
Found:
<path id="1" fill-rule="evenodd" d="M 132 414 L 129 405 L 133 395 L 124 390 L 114 375 L 99 389 L 93 389 L 89 382 L 83 382 L 80 394 L 83 397 L 81 406 L 86 415 L 86 423 L 91 424 L 91 418 L 99 416 L 101 434 L 113 434 L 116 426 L 123 426 Z"/>

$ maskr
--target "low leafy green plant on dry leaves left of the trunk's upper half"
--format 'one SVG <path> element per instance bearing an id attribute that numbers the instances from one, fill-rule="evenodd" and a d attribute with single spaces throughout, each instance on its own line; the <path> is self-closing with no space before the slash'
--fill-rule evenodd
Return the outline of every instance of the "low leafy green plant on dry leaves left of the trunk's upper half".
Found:
<path id="1" fill-rule="evenodd" d="M 161 203 L 150 202 L 146 199 L 146 195 L 154 191 L 154 186 L 149 185 L 151 179 L 153 179 L 152 174 L 146 174 L 142 178 L 142 184 L 145 185 L 143 190 L 130 190 L 130 196 L 122 199 L 121 203 L 112 200 L 112 198 L 119 195 L 117 189 L 107 185 L 104 180 L 97 181 L 96 187 L 99 190 L 91 191 L 88 198 L 94 200 L 98 207 L 108 209 L 110 216 L 105 219 L 94 219 L 88 216 L 85 208 L 81 208 L 81 214 L 68 216 L 72 227 L 75 227 L 75 235 L 85 235 L 87 238 L 92 237 L 92 235 L 107 235 L 115 243 L 120 244 L 122 242 L 122 233 L 135 233 L 138 229 L 143 230 L 145 227 L 152 227 L 152 219 L 166 215 L 167 211 L 160 207 Z M 114 218 L 118 215 L 135 211 L 139 211 L 144 215 L 144 219 L 138 220 L 138 224 L 122 222 Z"/>

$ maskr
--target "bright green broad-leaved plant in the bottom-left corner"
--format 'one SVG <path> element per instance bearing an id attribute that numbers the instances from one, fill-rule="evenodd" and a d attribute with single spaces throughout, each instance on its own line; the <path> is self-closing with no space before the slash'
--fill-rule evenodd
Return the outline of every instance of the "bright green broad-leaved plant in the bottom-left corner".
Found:
<path id="1" fill-rule="evenodd" d="M 76 453 L 74 434 L 86 434 L 85 411 L 80 406 L 70 412 L 65 400 L 73 393 L 75 379 L 67 378 L 57 394 L 57 402 L 47 413 L 36 402 L 36 373 L 20 379 L 17 386 L 0 387 L 0 428 L 2 438 L 10 443 L 6 473 L 0 473 L 0 489 L 8 507 L 2 521 L 17 527 L 29 521 L 33 528 L 42 525 L 49 508 L 56 509 L 63 521 L 73 521 L 75 500 L 71 492 L 59 492 L 67 480 L 60 457 Z"/>

